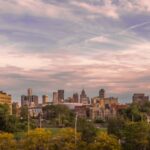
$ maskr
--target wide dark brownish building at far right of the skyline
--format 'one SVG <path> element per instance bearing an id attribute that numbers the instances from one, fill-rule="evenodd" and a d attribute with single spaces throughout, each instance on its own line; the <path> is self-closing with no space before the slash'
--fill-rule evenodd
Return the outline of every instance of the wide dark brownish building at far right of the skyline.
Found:
<path id="1" fill-rule="evenodd" d="M 149 101 L 149 96 L 145 96 L 144 93 L 136 93 L 132 97 L 133 103 L 144 103 Z"/>

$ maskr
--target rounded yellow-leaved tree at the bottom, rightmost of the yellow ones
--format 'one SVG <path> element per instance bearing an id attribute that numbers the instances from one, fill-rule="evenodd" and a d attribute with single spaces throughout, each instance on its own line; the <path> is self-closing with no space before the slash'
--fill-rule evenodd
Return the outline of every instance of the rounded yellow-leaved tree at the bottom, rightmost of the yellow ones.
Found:
<path id="1" fill-rule="evenodd" d="M 89 144 L 88 150 L 121 150 L 121 146 L 115 136 L 101 132 L 96 136 L 95 142 Z"/>

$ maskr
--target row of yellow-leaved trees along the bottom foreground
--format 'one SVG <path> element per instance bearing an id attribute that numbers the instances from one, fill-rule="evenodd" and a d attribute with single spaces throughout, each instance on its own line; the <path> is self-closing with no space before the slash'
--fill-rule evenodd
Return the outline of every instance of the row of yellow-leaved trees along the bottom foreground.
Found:
<path id="1" fill-rule="evenodd" d="M 63 128 L 57 133 L 47 129 L 35 129 L 16 140 L 12 134 L 0 134 L 1 150 L 120 150 L 118 140 L 107 133 L 97 133 L 94 142 L 86 143 L 75 130 Z"/>

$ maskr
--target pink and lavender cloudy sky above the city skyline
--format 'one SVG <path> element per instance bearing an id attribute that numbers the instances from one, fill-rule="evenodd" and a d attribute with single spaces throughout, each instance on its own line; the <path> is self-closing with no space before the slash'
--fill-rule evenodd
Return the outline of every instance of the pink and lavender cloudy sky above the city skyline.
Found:
<path id="1" fill-rule="evenodd" d="M 0 0 L 0 90 L 150 95 L 149 0 Z"/>

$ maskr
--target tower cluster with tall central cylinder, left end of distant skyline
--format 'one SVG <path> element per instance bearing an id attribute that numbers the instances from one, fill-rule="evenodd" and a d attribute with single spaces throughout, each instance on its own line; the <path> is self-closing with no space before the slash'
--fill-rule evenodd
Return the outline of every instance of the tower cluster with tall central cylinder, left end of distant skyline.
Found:
<path id="1" fill-rule="evenodd" d="M 28 95 L 21 96 L 21 106 L 25 105 L 29 107 L 38 105 L 38 96 L 32 95 L 32 89 L 28 89 Z"/>

